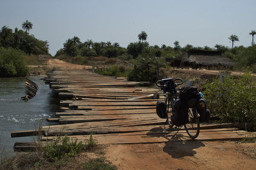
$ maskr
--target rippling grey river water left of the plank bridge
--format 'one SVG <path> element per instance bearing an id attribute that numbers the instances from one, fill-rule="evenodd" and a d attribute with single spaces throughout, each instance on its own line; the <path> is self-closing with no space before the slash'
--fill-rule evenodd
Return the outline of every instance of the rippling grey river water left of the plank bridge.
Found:
<path id="1" fill-rule="evenodd" d="M 42 77 L 27 77 L 38 84 L 36 96 L 25 102 L 20 97 L 26 94 L 25 78 L 0 78 L 0 153 L 12 155 L 13 145 L 19 141 L 33 141 L 36 137 L 11 137 L 11 132 L 31 130 L 39 125 L 50 125 L 46 118 L 58 109 L 58 101 Z"/>

